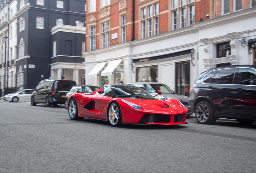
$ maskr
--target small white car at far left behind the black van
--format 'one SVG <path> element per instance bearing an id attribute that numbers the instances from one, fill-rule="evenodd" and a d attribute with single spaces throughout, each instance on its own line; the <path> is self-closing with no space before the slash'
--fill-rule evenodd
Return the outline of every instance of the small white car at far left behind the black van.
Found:
<path id="1" fill-rule="evenodd" d="M 33 90 L 25 89 L 17 91 L 16 93 L 8 94 L 4 96 L 4 101 L 17 102 L 17 101 L 30 101 Z"/>

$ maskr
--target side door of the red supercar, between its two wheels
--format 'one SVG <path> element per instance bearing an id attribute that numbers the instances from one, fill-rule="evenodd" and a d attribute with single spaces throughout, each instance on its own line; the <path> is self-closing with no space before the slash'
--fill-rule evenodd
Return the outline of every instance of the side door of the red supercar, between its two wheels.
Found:
<path id="1" fill-rule="evenodd" d="M 95 93 L 92 97 L 94 109 L 91 110 L 91 118 L 107 120 L 107 106 L 113 99 L 111 88 L 104 88 L 104 93 Z"/>

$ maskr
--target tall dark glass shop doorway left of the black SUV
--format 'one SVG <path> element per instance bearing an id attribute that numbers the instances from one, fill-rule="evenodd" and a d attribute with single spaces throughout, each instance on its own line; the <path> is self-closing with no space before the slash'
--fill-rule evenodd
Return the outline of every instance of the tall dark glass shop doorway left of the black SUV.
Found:
<path id="1" fill-rule="evenodd" d="M 176 64 L 175 93 L 189 97 L 190 89 L 190 61 L 177 62 Z"/>

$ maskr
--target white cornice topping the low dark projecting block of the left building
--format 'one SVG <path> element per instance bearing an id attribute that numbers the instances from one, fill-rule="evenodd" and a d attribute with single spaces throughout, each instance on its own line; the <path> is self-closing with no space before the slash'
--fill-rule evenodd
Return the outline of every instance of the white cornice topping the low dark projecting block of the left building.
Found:
<path id="1" fill-rule="evenodd" d="M 52 28 L 51 32 L 52 34 L 55 34 L 56 32 L 72 32 L 86 34 L 86 27 L 58 24 Z"/>

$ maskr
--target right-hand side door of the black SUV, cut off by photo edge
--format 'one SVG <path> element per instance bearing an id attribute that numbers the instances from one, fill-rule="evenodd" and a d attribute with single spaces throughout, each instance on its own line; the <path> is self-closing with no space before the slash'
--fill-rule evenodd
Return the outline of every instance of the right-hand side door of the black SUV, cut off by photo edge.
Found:
<path id="1" fill-rule="evenodd" d="M 241 116 L 256 118 L 256 70 L 238 68 L 235 77 L 234 112 Z"/>

